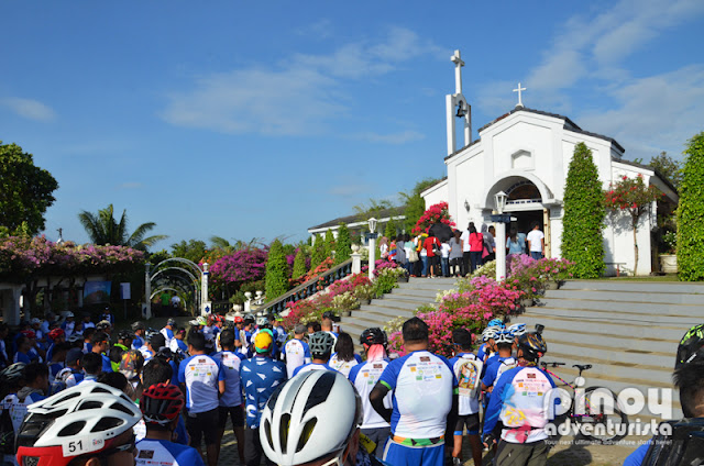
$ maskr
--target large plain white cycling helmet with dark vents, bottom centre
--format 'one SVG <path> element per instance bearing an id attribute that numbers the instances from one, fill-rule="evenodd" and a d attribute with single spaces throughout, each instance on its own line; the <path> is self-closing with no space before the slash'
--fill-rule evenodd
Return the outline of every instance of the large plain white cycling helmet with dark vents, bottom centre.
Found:
<path id="1" fill-rule="evenodd" d="M 362 425 L 362 400 L 336 370 L 298 374 L 276 390 L 262 412 L 260 440 L 270 461 L 299 465 L 337 454 L 341 465 L 350 439 Z"/>

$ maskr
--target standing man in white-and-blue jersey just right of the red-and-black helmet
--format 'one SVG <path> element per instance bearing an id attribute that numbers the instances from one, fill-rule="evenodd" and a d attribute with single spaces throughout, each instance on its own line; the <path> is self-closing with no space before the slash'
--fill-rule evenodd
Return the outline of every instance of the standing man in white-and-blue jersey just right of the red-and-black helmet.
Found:
<path id="1" fill-rule="evenodd" d="M 208 466 L 217 466 L 218 407 L 220 395 L 226 389 L 226 374 L 222 365 L 206 354 L 202 333 L 191 332 L 188 335 L 188 353 L 191 356 L 178 366 L 178 382 L 186 389 L 186 429 L 190 435 L 190 446 L 200 453 L 205 436 Z"/>

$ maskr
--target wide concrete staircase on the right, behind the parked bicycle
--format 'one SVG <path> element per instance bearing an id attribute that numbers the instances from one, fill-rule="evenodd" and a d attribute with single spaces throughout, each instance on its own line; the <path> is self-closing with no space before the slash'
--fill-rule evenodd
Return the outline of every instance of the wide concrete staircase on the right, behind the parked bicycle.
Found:
<path id="1" fill-rule="evenodd" d="M 546 326 L 543 360 L 566 380 L 573 364 L 592 364 L 586 386 L 672 388 L 674 355 L 682 335 L 704 322 L 704 285 L 659 281 L 575 280 L 547 291 L 539 306 L 512 319 Z M 682 415 L 673 392 L 673 417 Z M 647 418 L 647 415 L 645 415 Z"/>

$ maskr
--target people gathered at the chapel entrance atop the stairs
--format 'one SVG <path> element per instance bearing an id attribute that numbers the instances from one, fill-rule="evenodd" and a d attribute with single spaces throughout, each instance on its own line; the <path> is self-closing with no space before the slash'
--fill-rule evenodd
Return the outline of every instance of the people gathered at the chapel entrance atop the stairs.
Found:
<path id="1" fill-rule="evenodd" d="M 452 237 L 440 238 L 430 233 L 411 237 L 409 234 L 380 240 L 382 258 L 404 267 L 411 277 L 464 277 L 496 258 L 496 231 L 482 225 L 477 232 L 474 222 L 464 231 L 453 230 Z M 530 254 L 541 259 L 546 254 L 544 234 L 534 222 L 531 230 L 519 233 L 513 226 L 506 237 L 507 254 Z"/>

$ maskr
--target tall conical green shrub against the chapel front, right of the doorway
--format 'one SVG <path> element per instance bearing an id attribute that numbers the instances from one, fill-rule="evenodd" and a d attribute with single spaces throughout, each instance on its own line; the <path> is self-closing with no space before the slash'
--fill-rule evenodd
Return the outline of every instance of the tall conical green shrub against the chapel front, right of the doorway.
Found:
<path id="1" fill-rule="evenodd" d="M 598 277 L 605 268 L 604 193 L 598 170 L 586 144 L 574 146 L 564 186 L 564 217 L 562 219 L 562 257 L 572 260 L 576 278 Z"/>

